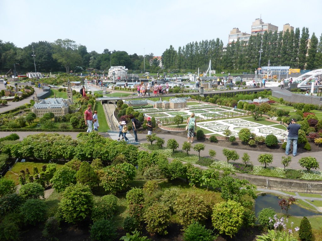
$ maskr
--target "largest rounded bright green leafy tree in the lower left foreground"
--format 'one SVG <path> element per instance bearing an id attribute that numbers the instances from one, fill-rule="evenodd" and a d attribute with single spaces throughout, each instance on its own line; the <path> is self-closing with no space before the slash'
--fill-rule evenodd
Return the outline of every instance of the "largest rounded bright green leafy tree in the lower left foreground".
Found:
<path id="1" fill-rule="evenodd" d="M 68 223 L 84 220 L 93 207 L 93 194 L 88 186 L 80 183 L 66 187 L 58 204 L 63 219 Z"/>

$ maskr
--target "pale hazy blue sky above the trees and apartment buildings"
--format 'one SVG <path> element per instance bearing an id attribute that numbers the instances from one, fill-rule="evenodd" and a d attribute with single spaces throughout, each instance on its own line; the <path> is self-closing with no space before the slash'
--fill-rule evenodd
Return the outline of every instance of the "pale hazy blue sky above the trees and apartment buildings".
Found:
<path id="1" fill-rule="evenodd" d="M 87 51 L 104 49 L 161 56 L 172 45 L 219 38 L 233 28 L 250 33 L 256 18 L 282 30 L 289 23 L 322 33 L 321 0 L 0 0 L 0 40 L 23 48 L 32 42 L 74 40 Z"/>

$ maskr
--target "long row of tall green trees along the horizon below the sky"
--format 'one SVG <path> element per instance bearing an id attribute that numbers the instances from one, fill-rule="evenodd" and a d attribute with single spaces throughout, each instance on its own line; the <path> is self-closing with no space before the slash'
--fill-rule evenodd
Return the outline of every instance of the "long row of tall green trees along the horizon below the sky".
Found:
<path id="1" fill-rule="evenodd" d="M 290 68 L 316 69 L 322 66 L 322 34 L 317 38 L 313 32 L 309 39 L 308 28 L 302 31 L 265 32 L 251 36 L 248 44 L 237 40 L 223 50 L 223 41 L 219 38 L 195 41 L 175 50 L 172 45 L 162 54 L 162 63 L 166 69 L 201 71 L 208 68 L 212 60 L 212 69 L 217 72 L 232 69 L 254 70 L 260 66 L 290 66 Z M 33 49 L 34 48 L 34 52 Z M 14 69 L 20 72 L 33 72 L 35 57 L 38 72 L 66 71 L 80 72 L 86 68 L 108 70 L 110 66 L 125 66 L 130 73 L 144 70 L 160 72 L 159 60 L 154 54 L 137 55 L 126 51 L 104 49 L 102 53 L 88 52 L 87 47 L 76 44 L 70 39 L 57 39 L 54 42 L 33 42 L 24 48 L 18 48 L 12 42 L 0 40 L 0 72 Z M 151 62 L 150 60 L 153 59 Z M 259 63 L 260 59 L 260 63 Z M 153 71 L 153 72 L 154 72 Z"/>

